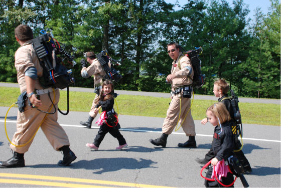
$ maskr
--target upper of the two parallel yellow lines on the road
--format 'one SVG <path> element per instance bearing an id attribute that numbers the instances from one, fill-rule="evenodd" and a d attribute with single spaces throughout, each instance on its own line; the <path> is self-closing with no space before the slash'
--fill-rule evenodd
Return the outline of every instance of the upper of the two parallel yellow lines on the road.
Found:
<path id="1" fill-rule="evenodd" d="M 82 182 L 82 183 L 94 183 L 94 184 L 106 184 L 117 186 L 131 186 L 131 187 L 164 187 L 149 184 L 127 183 L 118 181 L 105 181 L 96 179 L 83 179 L 72 177 L 58 177 L 58 176 L 45 176 L 45 175 L 30 175 L 30 174 L 18 174 L 18 173 L 0 173 L 2 177 L 16 177 L 16 178 L 30 178 L 30 179 L 44 179 L 44 180 L 58 180 L 58 181 L 70 181 L 70 182 Z"/>

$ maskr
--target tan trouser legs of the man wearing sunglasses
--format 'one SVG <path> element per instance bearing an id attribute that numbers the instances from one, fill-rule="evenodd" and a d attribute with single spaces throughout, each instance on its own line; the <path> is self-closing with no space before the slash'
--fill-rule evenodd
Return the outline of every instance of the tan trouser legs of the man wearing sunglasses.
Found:
<path id="1" fill-rule="evenodd" d="M 162 126 L 162 132 L 165 134 L 171 134 L 177 125 L 180 115 L 180 99 L 181 99 L 181 117 L 178 127 L 181 125 L 181 123 L 183 122 L 186 116 L 186 113 L 190 109 L 190 98 L 183 98 L 182 96 L 179 97 L 178 95 L 173 95 L 173 99 L 167 111 L 167 117 L 165 118 Z M 188 112 L 188 115 L 182 124 L 182 128 L 187 136 L 196 135 L 195 124 L 191 116 L 191 110 Z"/>

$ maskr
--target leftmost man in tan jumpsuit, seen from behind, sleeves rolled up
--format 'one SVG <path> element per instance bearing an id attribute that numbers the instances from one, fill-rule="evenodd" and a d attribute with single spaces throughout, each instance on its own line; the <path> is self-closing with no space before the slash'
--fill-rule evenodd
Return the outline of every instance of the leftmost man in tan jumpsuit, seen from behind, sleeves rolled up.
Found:
<path id="1" fill-rule="evenodd" d="M 18 83 L 21 93 L 27 91 L 30 102 L 42 111 L 54 112 L 54 106 L 58 108 L 60 93 L 58 89 L 43 89 L 38 77 L 43 75 L 43 68 L 39 63 L 36 52 L 32 45 L 33 32 L 27 25 L 20 25 L 15 29 L 15 36 L 21 47 L 15 54 L 15 67 L 17 69 Z M 34 92 L 38 93 L 40 99 Z M 39 93 L 45 93 L 40 94 Z M 50 100 L 48 93 L 50 93 Z M 58 113 L 46 114 L 36 108 L 31 108 L 28 100 L 25 101 L 24 112 L 18 111 L 17 131 L 13 136 L 10 147 L 14 156 L 7 161 L 0 161 L 0 167 L 24 167 L 24 153 L 28 151 L 33 138 L 41 126 L 47 139 L 57 151 L 63 151 L 63 160 L 58 165 L 69 165 L 76 159 L 75 154 L 69 148 L 69 140 L 64 129 L 57 122 Z"/>

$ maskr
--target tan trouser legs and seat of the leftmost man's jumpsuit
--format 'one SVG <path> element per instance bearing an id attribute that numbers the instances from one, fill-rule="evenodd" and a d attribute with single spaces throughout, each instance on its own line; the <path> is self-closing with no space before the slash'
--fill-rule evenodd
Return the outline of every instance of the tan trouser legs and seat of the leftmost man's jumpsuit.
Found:
<path id="1" fill-rule="evenodd" d="M 50 93 L 51 99 L 54 99 L 54 93 Z M 41 129 L 46 135 L 47 139 L 53 146 L 55 150 L 59 150 L 64 145 L 70 145 L 68 137 L 64 131 L 64 129 L 58 123 L 58 102 L 60 99 L 59 90 L 55 90 L 55 101 L 54 104 L 57 108 L 56 113 L 54 114 L 46 114 L 38 111 L 36 108 L 31 108 L 26 101 L 25 111 L 20 113 L 18 111 L 17 118 L 17 131 L 14 134 L 12 143 L 10 147 L 18 152 L 25 153 L 28 151 L 33 139 L 26 144 L 33 136 L 36 134 L 36 131 L 40 124 L 42 123 L 45 115 L 47 115 L 46 119 L 41 124 Z M 52 102 L 48 96 L 48 93 L 40 95 L 40 100 L 42 101 L 42 106 L 38 107 L 38 109 L 42 111 L 49 111 L 51 109 Z M 50 112 L 54 112 L 54 107 Z M 26 145 L 24 145 L 26 144 Z M 24 145 L 24 146 L 22 146 Z"/>

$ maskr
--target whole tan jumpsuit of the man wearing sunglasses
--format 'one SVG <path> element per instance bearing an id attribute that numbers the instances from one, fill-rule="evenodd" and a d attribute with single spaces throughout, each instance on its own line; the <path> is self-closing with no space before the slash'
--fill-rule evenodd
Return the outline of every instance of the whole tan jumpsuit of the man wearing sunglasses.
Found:
<path id="1" fill-rule="evenodd" d="M 171 74 L 175 74 L 176 78 L 172 80 L 172 90 L 175 91 L 176 88 L 181 86 L 192 84 L 193 71 L 191 61 L 188 57 L 184 56 L 180 59 L 181 68 L 178 67 L 178 61 L 181 55 L 179 55 L 176 61 L 173 61 Z M 188 68 L 189 67 L 189 68 Z M 190 69 L 191 68 L 191 69 Z M 190 76 L 191 78 L 187 77 Z M 171 134 L 174 128 L 177 125 L 179 115 L 180 115 L 180 98 L 181 98 L 181 115 L 179 120 L 179 125 L 184 120 L 188 110 L 190 109 L 190 98 L 184 98 L 183 94 L 173 95 L 173 99 L 170 103 L 170 106 L 167 110 L 167 116 L 164 120 L 162 126 L 162 132 L 165 134 Z M 182 124 L 182 128 L 187 136 L 195 136 L 195 124 L 191 116 L 191 110 L 188 112 L 188 115 L 185 121 Z"/>

